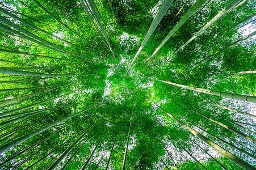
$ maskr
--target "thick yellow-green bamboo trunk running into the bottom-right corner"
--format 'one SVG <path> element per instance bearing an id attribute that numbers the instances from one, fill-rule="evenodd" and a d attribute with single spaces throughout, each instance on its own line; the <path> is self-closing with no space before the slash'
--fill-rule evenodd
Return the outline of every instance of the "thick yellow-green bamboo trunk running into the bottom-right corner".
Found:
<path id="1" fill-rule="evenodd" d="M 158 106 L 158 105 L 157 105 Z M 175 118 L 174 116 L 172 116 L 170 113 L 166 112 L 165 110 L 163 110 L 160 106 L 158 106 L 163 112 L 165 112 L 168 116 L 170 116 L 173 120 L 175 120 L 178 124 L 184 126 L 184 128 L 186 128 L 187 130 L 189 130 L 192 134 L 196 135 L 196 137 L 199 137 L 200 139 L 202 139 L 202 141 L 204 141 L 205 143 L 208 143 L 208 145 L 210 145 L 211 147 L 215 148 L 215 150 L 219 151 L 221 154 L 223 154 L 226 158 L 228 158 L 229 160 L 232 160 L 234 163 L 236 163 L 237 165 L 239 165 L 241 168 L 244 169 L 252 169 L 255 170 L 256 168 L 254 168 L 252 165 L 246 163 L 244 160 L 238 158 L 237 156 L 231 154 L 230 152 L 226 151 L 224 148 L 220 147 L 219 145 L 217 145 L 216 143 L 212 142 L 210 139 L 208 139 L 207 137 L 205 137 L 204 135 L 198 133 L 197 131 L 195 131 L 194 129 L 190 128 L 189 126 L 187 126 L 186 124 L 184 124 L 182 121 L 178 120 L 177 118 Z"/>

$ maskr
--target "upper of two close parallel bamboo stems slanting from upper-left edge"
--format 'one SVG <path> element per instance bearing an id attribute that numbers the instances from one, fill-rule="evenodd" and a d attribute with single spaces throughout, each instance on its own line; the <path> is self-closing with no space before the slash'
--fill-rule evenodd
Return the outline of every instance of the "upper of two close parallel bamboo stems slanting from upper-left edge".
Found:
<path id="1" fill-rule="evenodd" d="M 66 42 L 66 43 L 68 43 L 68 44 L 75 45 L 75 44 L 73 44 L 72 42 L 69 42 L 69 41 L 66 41 L 66 40 L 64 40 L 64 39 L 61 39 L 60 37 L 58 37 L 58 36 L 56 36 L 56 35 L 53 35 L 52 33 L 49 33 L 49 32 L 47 32 L 47 31 L 44 31 L 43 29 L 41 29 L 41 28 L 39 28 L 39 27 L 36 27 L 35 25 L 33 25 L 33 24 L 31 24 L 31 23 L 26 22 L 25 20 L 19 18 L 18 16 L 15 16 L 15 15 L 11 14 L 10 12 L 6 11 L 5 9 L 3 9 L 3 8 L 1 8 L 1 7 L 0 7 L 0 12 L 2 12 L 3 14 L 6 14 L 6 15 L 8 15 L 8 16 L 10 16 L 11 18 L 14 18 L 14 19 L 18 20 L 19 22 L 22 22 L 23 24 L 26 24 L 26 25 L 28 25 L 28 26 L 30 26 L 30 27 L 36 29 L 37 31 L 43 32 L 43 33 L 45 33 L 45 34 L 47 34 L 47 35 L 49 35 L 49 36 L 52 36 L 52 37 L 54 37 L 54 38 L 56 38 L 56 39 L 58 39 L 58 40 L 64 41 L 64 42 Z M 78 45 L 75 45 L 75 46 L 78 46 Z M 81 46 L 78 46 L 78 47 L 79 47 L 79 48 L 82 48 Z"/>

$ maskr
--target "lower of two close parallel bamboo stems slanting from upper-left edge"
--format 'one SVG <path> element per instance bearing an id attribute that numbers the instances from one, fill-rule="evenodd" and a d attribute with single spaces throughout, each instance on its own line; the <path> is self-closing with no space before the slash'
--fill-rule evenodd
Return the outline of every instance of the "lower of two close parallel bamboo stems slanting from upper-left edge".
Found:
<path id="1" fill-rule="evenodd" d="M 77 54 L 68 52 L 67 50 L 64 50 L 64 49 L 62 49 L 62 48 L 59 48 L 58 46 L 56 46 L 56 45 L 53 44 L 52 42 L 49 42 L 49 41 L 47 41 L 47 40 L 42 39 L 42 38 L 39 37 L 39 36 L 36 36 L 36 35 L 33 34 L 32 32 L 27 31 L 27 29 L 24 29 L 24 28 L 20 27 L 18 24 L 15 24 L 15 23 L 11 22 L 10 20 L 4 18 L 4 17 L 1 16 L 1 15 L 0 15 L 0 21 L 1 21 L 2 23 L 5 23 L 5 24 L 9 25 L 9 26 L 12 27 L 12 28 L 17 29 L 18 31 L 24 33 L 24 34 L 27 35 L 27 36 L 33 37 L 34 39 L 38 40 L 39 42 L 43 42 L 43 43 L 45 43 L 45 44 L 47 44 L 47 45 L 49 45 L 49 46 L 52 46 L 53 48 L 56 48 L 59 52 L 66 53 L 66 54 L 71 54 L 71 55 L 73 55 L 73 56 L 77 56 L 77 57 L 81 57 L 81 58 L 85 58 L 85 57 L 79 56 L 79 55 L 77 55 Z"/>

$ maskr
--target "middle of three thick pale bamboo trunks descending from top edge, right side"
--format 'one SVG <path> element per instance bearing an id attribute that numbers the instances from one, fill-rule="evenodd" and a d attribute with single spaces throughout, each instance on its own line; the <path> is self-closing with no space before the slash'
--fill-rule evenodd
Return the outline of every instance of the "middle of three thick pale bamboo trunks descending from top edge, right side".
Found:
<path id="1" fill-rule="evenodd" d="M 174 33 L 177 32 L 179 28 L 181 28 L 181 26 L 190 18 L 190 16 L 192 16 L 200 7 L 202 7 L 205 1 L 207 0 L 198 0 L 194 3 L 194 5 L 192 5 L 188 9 L 186 14 L 182 16 L 181 20 L 179 20 L 178 23 L 173 27 L 173 29 L 171 29 L 170 33 L 165 37 L 165 39 L 161 42 L 161 44 L 154 51 L 154 53 L 148 59 L 146 59 L 146 61 L 152 58 L 158 52 L 158 50 L 162 48 L 165 42 L 167 42 L 170 39 L 170 37 L 173 36 Z"/>

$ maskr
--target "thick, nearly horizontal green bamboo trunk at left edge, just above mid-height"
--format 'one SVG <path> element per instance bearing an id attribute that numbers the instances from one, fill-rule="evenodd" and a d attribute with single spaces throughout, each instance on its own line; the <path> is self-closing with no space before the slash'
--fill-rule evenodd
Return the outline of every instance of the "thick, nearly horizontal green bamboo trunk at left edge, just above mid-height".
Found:
<path id="1" fill-rule="evenodd" d="M 86 74 L 44 74 L 44 73 L 34 73 L 30 71 L 20 71 L 20 70 L 11 70 L 0 67 L 0 73 L 2 74 L 14 74 L 14 75 L 29 75 L 29 76 L 85 76 Z"/>

